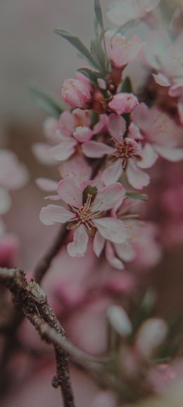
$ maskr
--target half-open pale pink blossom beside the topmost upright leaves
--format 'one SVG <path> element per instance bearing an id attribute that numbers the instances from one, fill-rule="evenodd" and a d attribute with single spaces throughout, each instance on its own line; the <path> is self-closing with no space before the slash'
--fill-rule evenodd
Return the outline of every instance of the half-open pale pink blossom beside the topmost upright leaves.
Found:
<path id="1" fill-rule="evenodd" d="M 130 41 L 120 34 L 115 35 L 112 39 L 106 36 L 108 58 L 111 60 L 112 65 L 117 68 L 125 67 L 128 63 L 134 61 L 141 46 L 142 42 L 136 35 Z"/>

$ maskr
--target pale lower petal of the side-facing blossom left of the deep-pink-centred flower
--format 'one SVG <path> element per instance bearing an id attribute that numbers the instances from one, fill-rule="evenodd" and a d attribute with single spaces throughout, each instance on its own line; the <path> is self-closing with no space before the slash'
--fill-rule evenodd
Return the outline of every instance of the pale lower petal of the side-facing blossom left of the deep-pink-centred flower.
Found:
<path id="1" fill-rule="evenodd" d="M 51 154 L 55 159 L 59 161 L 65 161 L 75 152 L 75 146 L 77 145 L 77 140 L 74 138 L 69 138 L 68 140 L 63 140 L 60 144 L 51 147 Z"/>

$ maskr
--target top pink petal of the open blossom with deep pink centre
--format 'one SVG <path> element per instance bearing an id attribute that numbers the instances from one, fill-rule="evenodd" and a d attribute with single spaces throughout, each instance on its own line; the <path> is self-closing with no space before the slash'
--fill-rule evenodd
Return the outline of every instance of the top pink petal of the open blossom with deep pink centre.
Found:
<path id="1" fill-rule="evenodd" d="M 110 114 L 108 119 L 108 131 L 112 137 L 120 142 L 122 140 L 122 135 L 124 135 L 127 128 L 127 123 L 123 117 L 117 114 Z"/>

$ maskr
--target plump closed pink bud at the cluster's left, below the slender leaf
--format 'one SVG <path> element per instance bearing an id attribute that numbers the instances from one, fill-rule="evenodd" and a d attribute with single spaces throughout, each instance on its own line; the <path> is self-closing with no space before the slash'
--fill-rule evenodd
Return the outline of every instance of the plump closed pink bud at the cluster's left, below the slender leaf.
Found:
<path id="1" fill-rule="evenodd" d="M 87 107 L 91 99 L 91 85 L 80 79 L 66 79 L 63 83 L 62 96 L 71 107 Z"/>

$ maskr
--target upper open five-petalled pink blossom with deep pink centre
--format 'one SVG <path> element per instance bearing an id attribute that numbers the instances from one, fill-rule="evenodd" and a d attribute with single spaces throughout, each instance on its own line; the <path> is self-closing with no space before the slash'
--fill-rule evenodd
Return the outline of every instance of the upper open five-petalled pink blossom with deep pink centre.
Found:
<path id="1" fill-rule="evenodd" d="M 134 188 L 141 189 L 149 184 L 149 175 L 139 168 L 141 162 L 141 145 L 133 138 L 124 138 L 126 122 L 120 116 L 111 114 L 108 119 L 108 131 L 111 134 L 111 145 L 103 142 L 89 141 L 82 145 L 82 151 L 87 157 L 103 157 L 108 154 L 112 164 L 104 169 L 102 179 L 105 185 L 114 183 L 125 172 L 127 179 Z M 147 163 L 146 168 L 148 168 Z"/>

